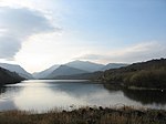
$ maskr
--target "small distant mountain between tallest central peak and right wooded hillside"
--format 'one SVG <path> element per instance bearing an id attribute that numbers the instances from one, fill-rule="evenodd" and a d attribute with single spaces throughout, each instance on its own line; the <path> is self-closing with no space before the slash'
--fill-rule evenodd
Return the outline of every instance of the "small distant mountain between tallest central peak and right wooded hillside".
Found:
<path id="1" fill-rule="evenodd" d="M 124 63 L 108 63 L 104 68 L 102 68 L 101 71 L 106 71 L 110 69 L 118 69 L 118 68 L 127 66 L 127 65 L 128 64 L 124 64 Z"/>

